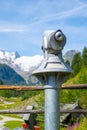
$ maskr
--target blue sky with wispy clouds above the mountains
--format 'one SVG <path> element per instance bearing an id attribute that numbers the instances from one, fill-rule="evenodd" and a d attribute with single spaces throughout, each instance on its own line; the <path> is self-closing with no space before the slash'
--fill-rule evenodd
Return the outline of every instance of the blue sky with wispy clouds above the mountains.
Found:
<path id="1" fill-rule="evenodd" d="M 87 46 L 87 0 L 0 0 L 0 49 L 42 55 L 43 33 L 61 29 L 63 52 Z"/>

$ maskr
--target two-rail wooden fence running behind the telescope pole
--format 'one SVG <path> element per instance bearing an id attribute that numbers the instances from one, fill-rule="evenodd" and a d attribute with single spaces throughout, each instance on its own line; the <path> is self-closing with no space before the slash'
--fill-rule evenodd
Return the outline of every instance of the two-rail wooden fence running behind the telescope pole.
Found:
<path id="1" fill-rule="evenodd" d="M 0 90 L 17 90 L 17 91 L 35 91 L 43 90 L 43 86 L 9 86 L 0 85 Z M 63 85 L 61 89 L 87 89 L 87 84 Z M 0 114 L 27 114 L 27 113 L 44 113 L 44 110 L 0 110 Z M 87 113 L 87 109 L 60 110 L 60 113 Z"/>

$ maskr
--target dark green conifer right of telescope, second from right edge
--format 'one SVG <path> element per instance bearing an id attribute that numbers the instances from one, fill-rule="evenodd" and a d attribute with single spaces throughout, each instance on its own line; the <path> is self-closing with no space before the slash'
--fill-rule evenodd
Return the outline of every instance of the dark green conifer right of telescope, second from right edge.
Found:
<path id="1" fill-rule="evenodd" d="M 74 56 L 73 60 L 72 60 L 72 65 L 71 65 L 74 73 L 73 75 L 75 76 L 78 72 L 80 72 L 81 68 L 82 68 L 82 57 L 81 57 L 81 53 L 78 52 L 76 53 L 76 55 Z"/>

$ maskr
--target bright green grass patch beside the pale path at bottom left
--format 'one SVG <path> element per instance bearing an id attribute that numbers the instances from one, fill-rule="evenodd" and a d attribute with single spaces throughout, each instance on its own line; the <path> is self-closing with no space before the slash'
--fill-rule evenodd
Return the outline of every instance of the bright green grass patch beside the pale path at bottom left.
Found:
<path id="1" fill-rule="evenodd" d="M 22 121 L 7 121 L 4 126 L 13 130 L 14 128 L 22 127 L 22 123 L 23 123 Z"/>

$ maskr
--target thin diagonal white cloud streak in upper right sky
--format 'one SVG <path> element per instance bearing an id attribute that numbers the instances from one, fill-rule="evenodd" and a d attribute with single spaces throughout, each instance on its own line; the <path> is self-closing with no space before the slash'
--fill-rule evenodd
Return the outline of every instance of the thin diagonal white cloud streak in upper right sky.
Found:
<path id="1" fill-rule="evenodd" d="M 86 4 L 80 4 L 77 7 L 66 10 L 66 11 L 61 11 L 61 12 L 53 13 L 53 14 L 47 14 L 44 17 L 40 17 L 39 20 L 36 21 L 36 23 L 38 22 L 40 24 L 41 22 L 43 23 L 43 22 L 46 22 L 46 21 L 60 20 L 60 19 L 72 17 L 74 15 L 81 14 L 81 12 L 84 8 L 85 8 L 85 11 L 86 11 L 87 5 Z"/>

